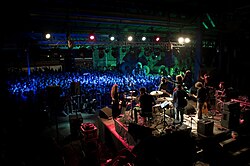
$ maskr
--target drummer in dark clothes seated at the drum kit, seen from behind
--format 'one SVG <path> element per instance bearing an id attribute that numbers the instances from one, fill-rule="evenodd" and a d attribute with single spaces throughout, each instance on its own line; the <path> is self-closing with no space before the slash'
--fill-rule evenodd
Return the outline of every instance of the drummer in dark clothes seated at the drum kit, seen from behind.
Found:
<path id="1" fill-rule="evenodd" d="M 152 109 L 153 105 L 156 104 L 155 99 L 152 95 L 147 93 L 147 89 L 142 87 L 139 89 L 140 96 L 139 96 L 139 106 L 141 108 L 141 117 L 143 119 L 143 123 L 147 122 L 147 118 L 152 118 Z"/>

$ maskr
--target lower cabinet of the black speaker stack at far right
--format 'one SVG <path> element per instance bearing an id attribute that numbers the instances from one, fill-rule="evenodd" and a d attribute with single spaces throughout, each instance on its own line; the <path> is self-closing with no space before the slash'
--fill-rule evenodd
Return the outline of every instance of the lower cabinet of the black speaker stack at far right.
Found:
<path id="1" fill-rule="evenodd" d="M 230 111 L 223 111 L 221 117 L 221 126 L 233 129 L 239 126 L 239 114 Z"/>

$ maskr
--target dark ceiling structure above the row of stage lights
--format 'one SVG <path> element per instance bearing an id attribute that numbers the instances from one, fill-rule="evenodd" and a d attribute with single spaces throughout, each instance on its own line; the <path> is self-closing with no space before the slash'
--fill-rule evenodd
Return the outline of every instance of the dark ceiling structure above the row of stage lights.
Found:
<path id="1" fill-rule="evenodd" d="M 68 40 L 77 48 L 126 44 L 128 35 L 135 36 L 134 44 L 141 43 L 143 35 L 150 39 L 147 43 L 157 35 L 162 42 L 175 42 L 181 35 L 195 41 L 198 32 L 202 40 L 213 42 L 224 34 L 249 35 L 250 20 L 246 2 L 213 0 L 36 0 L 16 2 L 4 15 L 5 50 L 67 48 Z M 46 39 L 45 33 L 52 38 Z M 90 34 L 96 35 L 94 42 Z M 117 41 L 110 42 L 110 35 Z"/>

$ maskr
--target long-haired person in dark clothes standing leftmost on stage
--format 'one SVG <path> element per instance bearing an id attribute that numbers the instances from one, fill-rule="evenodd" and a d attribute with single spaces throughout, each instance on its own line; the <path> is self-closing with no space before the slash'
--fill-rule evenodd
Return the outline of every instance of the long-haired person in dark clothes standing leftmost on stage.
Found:
<path id="1" fill-rule="evenodd" d="M 121 114 L 121 108 L 120 108 L 120 100 L 119 100 L 119 90 L 118 85 L 114 84 L 110 91 L 111 96 L 111 108 L 112 108 L 112 117 L 113 119 L 117 118 Z"/>

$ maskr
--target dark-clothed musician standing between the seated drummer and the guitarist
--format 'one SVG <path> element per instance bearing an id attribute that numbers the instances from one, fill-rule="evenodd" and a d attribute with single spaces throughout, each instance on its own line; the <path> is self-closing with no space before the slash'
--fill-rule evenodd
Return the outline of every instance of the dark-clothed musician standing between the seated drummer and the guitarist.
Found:
<path id="1" fill-rule="evenodd" d="M 173 92 L 173 105 L 175 109 L 175 119 L 180 121 L 181 124 L 184 120 L 184 111 L 187 106 L 187 99 L 189 99 L 189 95 L 183 89 L 181 84 L 177 84 L 176 91 Z"/>

